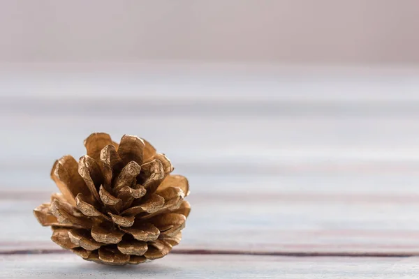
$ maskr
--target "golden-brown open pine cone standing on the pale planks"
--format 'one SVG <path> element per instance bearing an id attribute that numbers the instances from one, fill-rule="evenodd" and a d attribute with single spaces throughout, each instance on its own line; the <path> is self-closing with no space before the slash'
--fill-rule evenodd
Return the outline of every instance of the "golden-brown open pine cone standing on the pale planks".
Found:
<path id="1" fill-rule="evenodd" d="M 166 256 L 191 211 L 186 178 L 170 175 L 170 160 L 139 137 L 124 135 L 118 145 L 94 133 L 84 146 L 79 163 L 68 155 L 54 163 L 61 193 L 34 209 L 38 222 L 52 227 L 52 241 L 102 264 Z"/>

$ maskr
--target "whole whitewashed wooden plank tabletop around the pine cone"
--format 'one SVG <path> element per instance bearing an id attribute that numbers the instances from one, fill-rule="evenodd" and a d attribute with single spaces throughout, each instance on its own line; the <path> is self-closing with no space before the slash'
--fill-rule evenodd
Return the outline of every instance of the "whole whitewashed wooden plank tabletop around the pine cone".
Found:
<path id="1" fill-rule="evenodd" d="M 0 278 L 419 278 L 418 71 L 8 67 Z M 84 262 L 32 216 L 94 131 L 145 137 L 189 177 L 164 259 Z"/>

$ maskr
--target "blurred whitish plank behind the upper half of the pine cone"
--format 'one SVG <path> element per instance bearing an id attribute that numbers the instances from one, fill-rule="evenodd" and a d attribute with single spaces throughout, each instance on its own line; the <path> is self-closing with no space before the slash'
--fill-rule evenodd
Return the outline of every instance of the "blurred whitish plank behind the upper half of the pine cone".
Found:
<path id="1" fill-rule="evenodd" d="M 289 190 L 419 189 L 416 119 L 160 117 L 151 122 L 112 116 L 22 116 L 1 118 L 0 127 L 0 145 L 8 146 L 1 151 L 0 188 L 53 189 L 52 163 L 66 153 L 82 156 L 82 140 L 94 127 L 115 138 L 142 135 L 168 154 L 176 172 L 212 180 L 220 175 L 229 185 L 262 179 L 270 188 Z M 205 179 L 196 180 L 194 188 L 207 186 Z M 235 190 L 223 187 L 230 189 Z"/>

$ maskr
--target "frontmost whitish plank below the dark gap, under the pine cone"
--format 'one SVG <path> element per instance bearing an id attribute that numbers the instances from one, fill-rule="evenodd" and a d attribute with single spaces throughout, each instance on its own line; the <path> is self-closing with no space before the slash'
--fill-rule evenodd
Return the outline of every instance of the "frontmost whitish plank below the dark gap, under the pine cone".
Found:
<path id="1" fill-rule="evenodd" d="M 0 256 L 0 278 L 418 278 L 419 258 L 168 255 L 103 266 L 71 254 Z"/>

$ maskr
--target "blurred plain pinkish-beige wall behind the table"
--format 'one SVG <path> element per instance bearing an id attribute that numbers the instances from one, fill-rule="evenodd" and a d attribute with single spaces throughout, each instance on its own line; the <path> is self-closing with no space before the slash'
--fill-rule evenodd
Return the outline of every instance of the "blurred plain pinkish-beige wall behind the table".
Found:
<path id="1" fill-rule="evenodd" d="M 418 0 L 0 0 L 0 62 L 419 63 Z"/>

